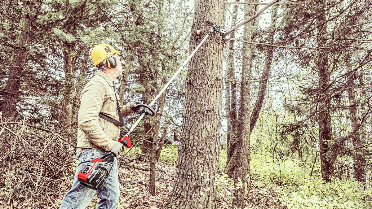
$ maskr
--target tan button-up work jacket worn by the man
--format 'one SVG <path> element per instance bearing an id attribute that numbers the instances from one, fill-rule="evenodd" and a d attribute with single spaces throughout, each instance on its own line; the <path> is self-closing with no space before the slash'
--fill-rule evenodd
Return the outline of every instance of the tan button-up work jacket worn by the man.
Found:
<path id="1" fill-rule="evenodd" d="M 77 147 L 110 151 L 118 141 L 119 127 L 98 116 L 102 112 L 119 120 L 116 109 L 116 97 L 119 99 L 119 95 L 114 89 L 110 78 L 100 70 L 85 85 L 77 118 Z M 133 113 L 129 106 L 121 106 L 123 117 Z"/>

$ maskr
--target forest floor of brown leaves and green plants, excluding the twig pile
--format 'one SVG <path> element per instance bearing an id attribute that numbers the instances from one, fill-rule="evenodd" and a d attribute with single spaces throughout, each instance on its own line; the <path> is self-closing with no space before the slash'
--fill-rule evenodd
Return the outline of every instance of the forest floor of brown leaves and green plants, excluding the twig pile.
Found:
<path id="1" fill-rule="evenodd" d="M 136 150 L 129 152 L 119 168 L 120 204 L 118 208 L 130 209 L 161 209 L 169 199 L 173 189 L 176 174 L 175 162 L 177 152 L 175 147 L 164 149 L 166 154 L 161 155 L 156 165 L 156 195 L 148 194 L 149 172 L 148 163 L 132 160 Z M 173 154 L 172 154 L 173 153 Z M 224 149 L 221 149 L 220 171 L 225 161 Z M 165 163 L 167 161 L 168 163 Z M 293 159 L 280 161 L 261 154 L 252 154 L 251 177 L 252 188 L 246 196 L 245 205 L 252 209 L 291 209 L 291 208 L 371 208 L 371 188 L 364 189 L 363 185 L 355 181 L 336 180 L 323 183 L 318 175 L 319 164 L 314 165 L 313 175 L 310 177 L 311 162 L 300 165 L 301 162 Z M 65 189 L 72 181 L 72 176 L 65 179 Z M 216 178 L 218 185 L 218 204 L 220 209 L 231 208 L 233 181 L 222 172 Z M 60 193 L 58 205 L 64 193 Z M 94 197 L 89 208 L 96 208 L 99 201 Z"/>

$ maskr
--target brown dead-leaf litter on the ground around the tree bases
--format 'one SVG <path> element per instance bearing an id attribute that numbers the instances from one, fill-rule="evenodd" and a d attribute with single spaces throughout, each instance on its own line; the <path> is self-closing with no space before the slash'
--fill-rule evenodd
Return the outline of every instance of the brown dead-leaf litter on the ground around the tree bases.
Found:
<path id="1" fill-rule="evenodd" d="M 120 164 L 119 164 L 120 166 Z M 137 167 L 134 168 L 133 166 Z M 159 162 L 156 165 L 155 178 L 155 192 L 154 196 L 148 193 L 149 181 L 149 167 L 148 163 L 135 162 L 132 165 L 124 164 L 119 167 L 119 183 L 120 186 L 120 200 L 118 208 L 129 209 L 161 209 L 168 201 L 171 191 L 173 190 L 173 181 L 176 174 L 176 167 L 174 164 Z M 140 168 L 140 169 L 138 169 Z M 142 169 L 142 170 L 141 170 Z M 274 189 L 254 186 L 252 183 L 252 190 L 250 197 L 246 197 L 245 205 L 247 208 L 286 208 L 278 200 Z M 224 192 L 223 192 L 224 191 Z M 227 190 L 220 192 L 226 193 Z M 67 192 L 67 190 L 66 190 Z M 231 199 L 226 194 L 219 196 L 218 205 L 220 209 L 228 209 L 230 207 Z M 60 196 L 60 200 L 63 194 Z M 98 202 L 95 196 L 88 208 L 96 208 Z M 58 203 L 57 203 L 58 204 Z"/>

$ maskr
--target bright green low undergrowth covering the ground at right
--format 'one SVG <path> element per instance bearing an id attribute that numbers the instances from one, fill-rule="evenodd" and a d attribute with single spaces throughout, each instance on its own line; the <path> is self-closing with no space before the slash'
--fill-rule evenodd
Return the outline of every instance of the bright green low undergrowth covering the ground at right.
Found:
<path id="1" fill-rule="evenodd" d="M 260 186 L 274 187 L 283 205 L 291 208 L 372 208 L 372 189 L 353 179 L 324 183 L 320 165 L 311 160 L 251 156 L 251 178 Z"/>

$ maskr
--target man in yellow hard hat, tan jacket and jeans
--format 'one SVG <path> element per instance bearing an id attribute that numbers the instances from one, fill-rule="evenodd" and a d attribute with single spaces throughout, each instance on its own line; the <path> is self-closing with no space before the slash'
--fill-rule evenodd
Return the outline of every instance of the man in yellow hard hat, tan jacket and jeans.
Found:
<path id="1" fill-rule="evenodd" d="M 103 113 L 110 118 L 120 120 L 133 112 L 140 112 L 137 103 L 130 103 L 117 109 L 118 95 L 114 80 L 123 71 L 119 56 L 108 44 L 99 44 L 92 49 L 93 65 L 98 72 L 85 85 L 81 94 L 81 103 L 77 119 L 77 154 L 79 162 L 76 167 L 71 189 L 63 198 L 61 209 L 86 208 L 97 192 L 98 208 L 112 209 L 119 203 L 119 179 L 116 157 L 124 150 L 124 145 L 118 142 L 119 127 L 99 117 Z M 122 120 L 122 119 L 121 119 Z M 115 154 L 114 164 L 106 181 L 99 190 L 88 189 L 77 180 L 77 174 L 83 167 L 95 158 L 100 158 L 112 152 Z"/>

